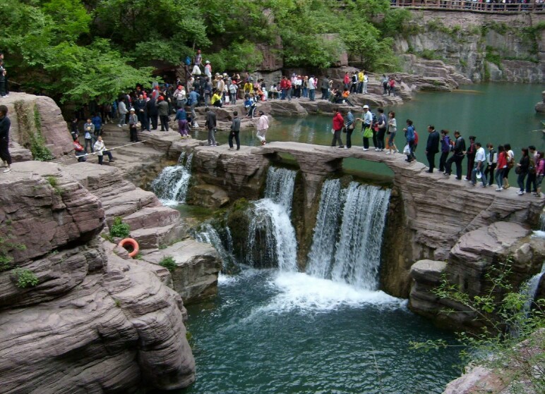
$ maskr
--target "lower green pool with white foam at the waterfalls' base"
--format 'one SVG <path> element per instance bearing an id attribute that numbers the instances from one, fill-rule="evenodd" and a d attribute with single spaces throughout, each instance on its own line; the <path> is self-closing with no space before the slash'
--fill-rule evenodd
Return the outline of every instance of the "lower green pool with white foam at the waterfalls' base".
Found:
<path id="1" fill-rule="evenodd" d="M 452 335 L 405 301 L 304 273 L 222 277 L 188 313 L 197 381 L 176 394 L 441 393 L 460 371 L 453 349 L 409 350 Z"/>

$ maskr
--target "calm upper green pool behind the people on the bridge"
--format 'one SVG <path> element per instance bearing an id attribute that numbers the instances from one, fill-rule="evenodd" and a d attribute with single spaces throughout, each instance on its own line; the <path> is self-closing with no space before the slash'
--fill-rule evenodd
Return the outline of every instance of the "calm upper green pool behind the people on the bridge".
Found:
<path id="1" fill-rule="evenodd" d="M 417 149 L 417 159 L 426 163 L 424 146 L 426 144 L 426 127 L 435 125 L 437 130 L 460 130 L 466 142 L 469 135 L 475 135 L 477 141 L 485 146 L 488 142 L 494 144 L 510 143 L 515 158 L 520 158 L 520 149 L 528 145 L 534 145 L 538 150 L 545 149 L 545 135 L 539 130 L 542 128 L 543 114 L 534 111 L 534 105 L 541 100 L 541 91 L 544 87 L 539 85 L 522 85 L 513 83 L 494 83 L 484 85 L 467 85 L 454 92 L 420 92 L 412 101 L 407 101 L 401 106 L 386 107 L 385 112 L 395 111 L 398 127 L 405 127 L 407 118 L 414 121 L 417 127 L 420 141 Z M 371 109 L 376 111 L 376 109 Z M 359 111 L 354 111 L 355 116 L 360 116 Z M 267 133 L 267 140 L 273 141 L 297 141 L 309 144 L 329 145 L 331 143 L 332 116 L 306 116 L 304 118 L 287 117 L 275 118 Z M 206 139 L 203 130 L 195 132 L 195 137 Z M 217 140 L 220 143 L 227 142 L 227 132 L 218 132 Z M 344 135 L 343 135 L 344 141 Z M 258 146 L 255 130 L 241 132 L 241 144 Z M 397 147 L 401 150 L 405 145 L 405 137 L 398 133 Z M 354 133 L 352 146 L 361 147 L 361 133 Z M 436 156 L 436 166 L 439 157 Z M 345 160 L 345 168 L 391 174 L 381 164 L 373 164 L 368 161 Z M 465 171 L 464 161 L 464 171 Z M 511 184 L 515 185 L 515 173 L 511 171 Z"/>

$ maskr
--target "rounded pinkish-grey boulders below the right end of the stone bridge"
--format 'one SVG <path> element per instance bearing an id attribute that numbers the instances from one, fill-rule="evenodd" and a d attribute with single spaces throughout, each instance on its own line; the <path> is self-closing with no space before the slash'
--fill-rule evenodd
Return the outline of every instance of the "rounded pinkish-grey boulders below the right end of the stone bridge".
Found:
<path id="1" fill-rule="evenodd" d="M 491 283 L 485 275 L 491 266 L 511 256 L 513 273 L 510 283 L 516 289 L 520 283 L 539 272 L 545 258 L 545 245 L 540 238 L 529 237 L 531 231 L 518 223 L 499 221 L 469 231 L 456 242 L 445 261 L 421 260 L 413 264 L 410 275 L 414 280 L 410 308 L 424 316 L 450 327 L 478 327 L 471 314 L 441 314 L 441 310 L 464 308 L 449 300 L 438 299 L 431 290 L 436 288 L 443 274 L 450 283 L 470 297 L 484 295 Z"/>

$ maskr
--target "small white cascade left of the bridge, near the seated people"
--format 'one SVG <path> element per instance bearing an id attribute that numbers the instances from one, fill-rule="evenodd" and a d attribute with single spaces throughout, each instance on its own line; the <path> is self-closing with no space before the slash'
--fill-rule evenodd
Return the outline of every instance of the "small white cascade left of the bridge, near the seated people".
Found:
<path id="1" fill-rule="evenodd" d="M 151 183 L 152 191 L 164 205 L 175 206 L 186 202 L 193 153 L 189 154 L 184 165 L 185 156 L 186 152 L 181 152 L 178 164 L 163 168 L 159 176 Z"/>

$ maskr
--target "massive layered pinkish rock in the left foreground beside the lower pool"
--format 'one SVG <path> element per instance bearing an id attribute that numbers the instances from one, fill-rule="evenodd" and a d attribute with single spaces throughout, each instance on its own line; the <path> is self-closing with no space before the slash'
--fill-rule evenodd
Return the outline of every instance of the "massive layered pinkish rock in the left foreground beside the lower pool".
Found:
<path id="1" fill-rule="evenodd" d="M 97 234 L 114 207 L 104 209 L 65 169 L 27 161 L 0 180 L 1 238 L 15 244 L 4 243 L 2 253 L 13 258 L 11 268 L 38 281 L 20 288 L 16 271 L 0 272 L 2 391 L 188 386 L 195 366 L 181 297 L 162 284 L 157 266 L 126 261 L 102 246 Z M 90 187 L 101 182 L 112 180 L 86 179 Z"/>

